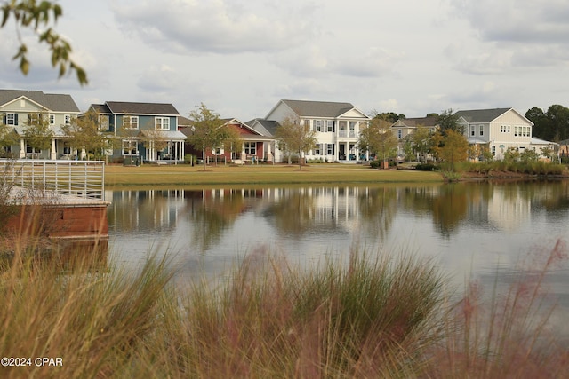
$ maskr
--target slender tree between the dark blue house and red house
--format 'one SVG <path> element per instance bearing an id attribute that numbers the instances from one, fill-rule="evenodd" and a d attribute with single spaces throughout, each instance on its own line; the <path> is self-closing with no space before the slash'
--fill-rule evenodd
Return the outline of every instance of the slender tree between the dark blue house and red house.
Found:
<path id="1" fill-rule="evenodd" d="M 188 143 L 196 150 L 201 149 L 204 152 L 205 168 L 207 167 L 205 152 L 223 145 L 227 138 L 227 128 L 223 128 L 220 115 L 205 107 L 204 103 L 190 112 L 189 119 L 192 122 L 192 134 L 188 136 Z"/>

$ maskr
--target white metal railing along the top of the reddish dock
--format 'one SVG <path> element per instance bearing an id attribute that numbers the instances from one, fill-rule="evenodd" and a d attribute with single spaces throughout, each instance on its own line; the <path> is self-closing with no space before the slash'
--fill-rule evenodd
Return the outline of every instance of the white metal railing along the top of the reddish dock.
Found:
<path id="1" fill-rule="evenodd" d="M 0 180 L 82 199 L 105 200 L 105 162 L 0 160 Z"/>

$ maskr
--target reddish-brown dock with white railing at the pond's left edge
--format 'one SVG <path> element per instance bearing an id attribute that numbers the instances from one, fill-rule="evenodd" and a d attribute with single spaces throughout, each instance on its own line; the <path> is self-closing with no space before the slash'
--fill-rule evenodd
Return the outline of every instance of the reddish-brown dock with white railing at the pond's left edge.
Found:
<path id="1" fill-rule="evenodd" d="M 4 167 L 2 167 L 4 163 Z M 4 161 L 8 203 L 18 212 L 7 225 L 20 235 L 108 240 L 104 162 Z"/>

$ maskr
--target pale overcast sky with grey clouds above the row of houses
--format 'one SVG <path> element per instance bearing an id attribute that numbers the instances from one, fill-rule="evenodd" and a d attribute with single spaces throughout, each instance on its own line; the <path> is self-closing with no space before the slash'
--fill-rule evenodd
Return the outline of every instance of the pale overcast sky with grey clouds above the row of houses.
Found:
<path id="1" fill-rule="evenodd" d="M 0 2 L 1 3 L 1 2 Z M 0 88 L 200 104 L 247 122 L 280 99 L 365 114 L 569 107 L 566 0 L 60 0 L 54 26 L 87 71 L 58 79 L 44 47 L 0 29 Z M 28 75 L 12 60 L 28 43 Z"/>

